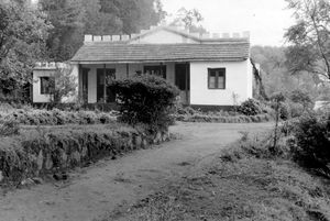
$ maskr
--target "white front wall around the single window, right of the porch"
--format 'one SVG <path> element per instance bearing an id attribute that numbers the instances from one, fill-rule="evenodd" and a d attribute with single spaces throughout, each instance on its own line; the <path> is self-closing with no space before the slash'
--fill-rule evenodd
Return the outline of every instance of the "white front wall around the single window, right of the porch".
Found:
<path id="1" fill-rule="evenodd" d="M 249 63 L 190 63 L 190 104 L 233 106 L 252 98 L 252 67 Z M 208 89 L 208 68 L 226 68 L 226 89 Z M 234 93 L 238 95 L 237 101 L 233 99 Z"/>

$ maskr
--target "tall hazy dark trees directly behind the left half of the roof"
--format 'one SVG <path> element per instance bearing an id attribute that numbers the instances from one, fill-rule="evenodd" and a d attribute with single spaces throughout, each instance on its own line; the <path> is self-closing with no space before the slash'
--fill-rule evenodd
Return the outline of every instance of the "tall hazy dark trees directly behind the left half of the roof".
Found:
<path id="1" fill-rule="evenodd" d="M 47 47 L 55 62 L 72 58 L 85 33 L 132 34 L 157 24 L 164 15 L 158 0 L 40 0 L 40 5 L 54 25 Z"/>

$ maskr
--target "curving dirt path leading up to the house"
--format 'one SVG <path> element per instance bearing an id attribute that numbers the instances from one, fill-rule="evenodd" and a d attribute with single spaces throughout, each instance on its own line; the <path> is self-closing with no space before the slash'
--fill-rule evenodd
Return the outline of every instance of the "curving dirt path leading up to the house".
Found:
<path id="1" fill-rule="evenodd" d="M 152 150 L 70 174 L 65 184 L 43 184 L 1 196 L 0 221 L 90 221 L 116 206 L 147 196 L 173 181 L 191 165 L 207 161 L 240 131 L 263 131 L 271 123 L 178 123 L 170 130 L 180 139 Z"/>

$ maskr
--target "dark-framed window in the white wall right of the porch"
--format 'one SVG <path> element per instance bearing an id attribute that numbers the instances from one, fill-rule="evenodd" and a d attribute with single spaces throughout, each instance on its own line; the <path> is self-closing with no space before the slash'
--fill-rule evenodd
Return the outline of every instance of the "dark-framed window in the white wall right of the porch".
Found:
<path id="1" fill-rule="evenodd" d="M 226 68 L 208 69 L 208 88 L 226 89 Z"/>

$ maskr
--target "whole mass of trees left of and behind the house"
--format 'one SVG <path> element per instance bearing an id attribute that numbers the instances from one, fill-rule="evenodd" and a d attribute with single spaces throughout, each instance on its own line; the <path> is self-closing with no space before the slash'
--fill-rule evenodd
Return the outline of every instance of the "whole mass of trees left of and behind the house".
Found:
<path id="1" fill-rule="evenodd" d="M 35 62 L 68 60 L 84 34 L 130 34 L 164 16 L 160 0 L 1 0 L 0 96 L 31 82 Z"/>

